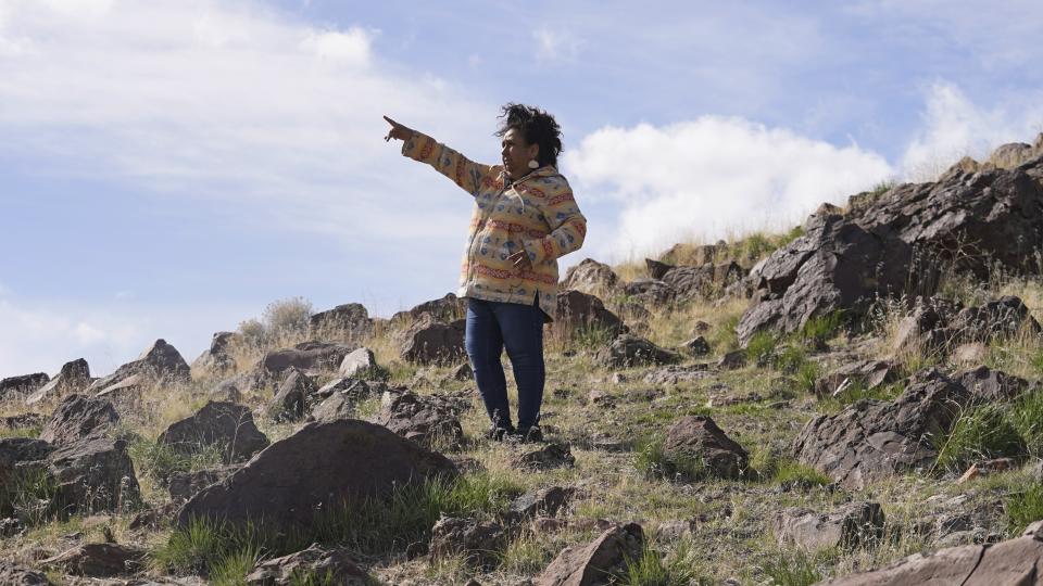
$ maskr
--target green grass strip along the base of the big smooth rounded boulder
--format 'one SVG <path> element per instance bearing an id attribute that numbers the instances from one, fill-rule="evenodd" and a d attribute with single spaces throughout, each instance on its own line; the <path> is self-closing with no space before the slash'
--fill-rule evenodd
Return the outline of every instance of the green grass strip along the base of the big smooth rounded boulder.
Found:
<path id="1" fill-rule="evenodd" d="M 177 574 L 203 573 L 216 581 L 221 572 L 227 584 L 236 584 L 247 561 L 255 562 L 260 552 L 281 556 L 314 543 L 347 546 L 366 556 L 402 552 L 429 539 L 440 517 L 499 517 L 520 493 L 507 480 L 476 474 L 407 485 L 384 499 L 334 508 L 317 513 L 306 528 L 192 519 L 175 530 L 153 558 L 160 568 Z"/>

